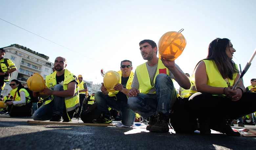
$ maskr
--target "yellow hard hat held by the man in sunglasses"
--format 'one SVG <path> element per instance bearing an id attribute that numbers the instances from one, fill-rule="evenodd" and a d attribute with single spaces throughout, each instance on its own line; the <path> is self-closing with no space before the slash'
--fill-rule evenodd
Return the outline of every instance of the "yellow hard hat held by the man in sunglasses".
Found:
<path id="1" fill-rule="evenodd" d="M 114 87 L 120 82 L 120 74 L 116 71 L 108 71 L 105 73 L 103 83 L 108 92 L 116 92 Z"/>

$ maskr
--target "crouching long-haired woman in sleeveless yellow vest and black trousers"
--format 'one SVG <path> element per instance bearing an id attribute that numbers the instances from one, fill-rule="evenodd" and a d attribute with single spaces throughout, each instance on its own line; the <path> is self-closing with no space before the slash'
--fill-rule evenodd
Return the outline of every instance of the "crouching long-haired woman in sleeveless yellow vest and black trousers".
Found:
<path id="1" fill-rule="evenodd" d="M 216 38 L 209 44 L 206 59 L 197 64 L 195 86 L 198 93 L 189 98 L 189 105 L 198 118 L 200 134 L 211 134 L 210 129 L 213 129 L 240 136 L 230 127 L 232 120 L 256 111 L 256 94 L 245 92 L 242 81 L 232 90 L 240 77 L 232 61 L 234 52 L 229 39 Z"/>

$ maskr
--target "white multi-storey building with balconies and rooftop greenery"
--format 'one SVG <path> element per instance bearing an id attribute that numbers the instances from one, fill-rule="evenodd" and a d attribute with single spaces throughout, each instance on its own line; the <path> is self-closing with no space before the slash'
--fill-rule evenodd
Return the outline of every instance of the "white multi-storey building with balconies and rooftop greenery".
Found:
<path id="1" fill-rule="evenodd" d="M 52 73 L 54 64 L 48 61 L 48 56 L 18 44 L 4 47 L 4 49 L 6 51 L 4 57 L 11 59 L 17 67 L 17 71 L 12 73 L 11 80 L 17 79 L 22 84 L 27 85 L 27 79 L 34 73 L 40 74 L 44 79 L 47 75 Z M 10 82 L 6 83 L 2 91 L 3 96 L 6 96 L 11 91 L 9 83 Z"/>

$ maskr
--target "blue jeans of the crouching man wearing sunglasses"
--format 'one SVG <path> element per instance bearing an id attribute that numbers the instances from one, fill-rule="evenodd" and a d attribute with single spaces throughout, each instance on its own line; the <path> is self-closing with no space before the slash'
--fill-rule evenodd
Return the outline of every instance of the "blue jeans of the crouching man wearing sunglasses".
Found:
<path id="1" fill-rule="evenodd" d="M 120 111 L 122 113 L 122 124 L 125 126 L 132 126 L 135 120 L 135 113 L 129 108 L 126 101 L 117 99 L 116 97 L 109 97 L 104 95 L 101 91 L 95 93 L 95 101 L 99 109 L 99 113 L 110 116 L 108 107 Z"/>

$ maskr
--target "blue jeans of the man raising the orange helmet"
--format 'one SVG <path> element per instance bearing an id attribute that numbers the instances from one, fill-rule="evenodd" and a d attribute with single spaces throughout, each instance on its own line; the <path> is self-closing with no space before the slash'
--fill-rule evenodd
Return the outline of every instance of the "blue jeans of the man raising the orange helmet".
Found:
<path id="1" fill-rule="evenodd" d="M 171 77 L 163 73 L 157 75 L 155 89 L 155 94 L 139 93 L 137 97 L 128 98 L 128 105 L 143 118 L 155 113 L 163 113 L 169 118 L 170 110 L 177 99 Z"/>

